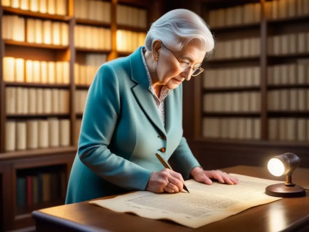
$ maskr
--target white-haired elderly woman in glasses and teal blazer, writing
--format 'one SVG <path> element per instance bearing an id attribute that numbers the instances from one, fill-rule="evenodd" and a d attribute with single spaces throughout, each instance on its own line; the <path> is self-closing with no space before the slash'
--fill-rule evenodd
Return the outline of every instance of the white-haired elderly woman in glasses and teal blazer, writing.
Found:
<path id="1" fill-rule="evenodd" d="M 179 192 L 184 179 L 236 184 L 205 171 L 183 137 L 182 82 L 199 75 L 213 36 L 197 14 L 167 12 L 145 46 L 103 64 L 88 92 L 66 204 L 127 191 Z M 174 164 L 164 169 L 155 153 Z"/>

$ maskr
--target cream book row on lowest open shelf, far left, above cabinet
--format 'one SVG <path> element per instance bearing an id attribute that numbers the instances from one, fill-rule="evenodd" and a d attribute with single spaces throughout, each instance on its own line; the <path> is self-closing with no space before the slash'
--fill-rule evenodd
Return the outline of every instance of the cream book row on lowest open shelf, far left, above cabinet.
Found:
<path id="1" fill-rule="evenodd" d="M 70 146 L 70 120 L 6 121 L 6 151 Z"/>

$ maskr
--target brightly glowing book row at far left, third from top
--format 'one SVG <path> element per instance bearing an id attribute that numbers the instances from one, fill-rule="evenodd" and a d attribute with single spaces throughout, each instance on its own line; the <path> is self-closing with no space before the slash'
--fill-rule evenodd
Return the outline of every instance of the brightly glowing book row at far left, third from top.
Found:
<path id="1" fill-rule="evenodd" d="M 23 58 L 3 58 L 3 80 L 27 83 L 70 83 L 70 64 L 67 61 L 37 61 Z"/>

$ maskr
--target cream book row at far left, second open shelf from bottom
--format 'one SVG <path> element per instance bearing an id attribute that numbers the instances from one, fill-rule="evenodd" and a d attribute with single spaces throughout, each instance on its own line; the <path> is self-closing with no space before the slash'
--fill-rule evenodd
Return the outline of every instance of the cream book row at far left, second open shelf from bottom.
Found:
<path id="1" fill-rule="evenodd" d="M 69 114 L 66 89 L 6 87 L 6 114 Z"/>

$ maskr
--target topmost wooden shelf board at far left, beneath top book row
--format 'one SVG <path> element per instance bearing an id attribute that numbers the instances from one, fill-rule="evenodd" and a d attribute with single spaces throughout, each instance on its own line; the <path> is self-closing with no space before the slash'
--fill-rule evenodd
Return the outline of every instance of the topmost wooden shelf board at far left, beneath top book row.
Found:
<path id="1" fill-rule="evenodd" d="M 2 10 L 5 13 L 13 13 L 21 16 L 30 16 L 41 19 L 52 19 L 57 21 L 69 21 L 71 19 L 70 16 L 43 14 L 39 12 L 25 11 L 19 8 L 13 8 L 8 6 L 2 6 Z"/>

